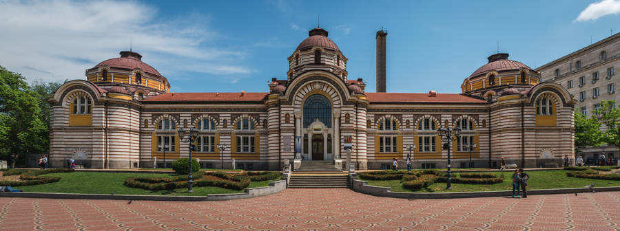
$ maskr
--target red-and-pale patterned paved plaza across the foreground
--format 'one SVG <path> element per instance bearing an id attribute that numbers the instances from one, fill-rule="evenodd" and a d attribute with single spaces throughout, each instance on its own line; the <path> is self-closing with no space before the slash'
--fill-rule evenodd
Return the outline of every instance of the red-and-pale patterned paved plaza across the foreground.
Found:
<path id="1" fill-rule="evenodd" d="M 620 192 L 406 200 L 287 189 L 234 201 L 0 197 L 0 230 L 617 230 Z"/>

